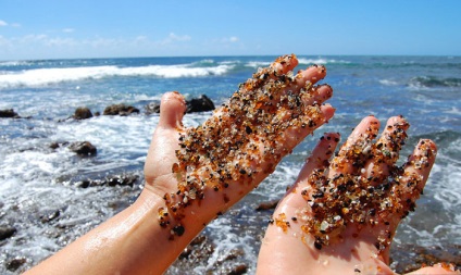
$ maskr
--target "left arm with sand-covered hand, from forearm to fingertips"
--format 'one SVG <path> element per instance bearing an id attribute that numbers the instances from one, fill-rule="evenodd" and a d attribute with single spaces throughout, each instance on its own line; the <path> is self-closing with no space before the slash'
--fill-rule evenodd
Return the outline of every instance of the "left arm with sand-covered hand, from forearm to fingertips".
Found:
<path id="1" fill-rule="evenodd" d="M 295 55 L 277 59 L 197 128 L 183 127 L 183 97 L 165 93 L 139 198 L 29 274 L 163 274 L 207 223 L 333 116 L 321 105 L 332 89 L 313 86 L 325 68 L 292 76 L 297 64 Z"/>

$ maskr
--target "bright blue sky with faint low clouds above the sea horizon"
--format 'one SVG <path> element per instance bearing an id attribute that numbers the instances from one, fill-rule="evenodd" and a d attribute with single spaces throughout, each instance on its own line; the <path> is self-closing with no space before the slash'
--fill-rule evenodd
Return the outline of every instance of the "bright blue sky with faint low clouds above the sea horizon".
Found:
<path id="1" fill-rule="evenodd" d="M 0 60 L 461 55 L 460 0 L 0 0 Z"/>

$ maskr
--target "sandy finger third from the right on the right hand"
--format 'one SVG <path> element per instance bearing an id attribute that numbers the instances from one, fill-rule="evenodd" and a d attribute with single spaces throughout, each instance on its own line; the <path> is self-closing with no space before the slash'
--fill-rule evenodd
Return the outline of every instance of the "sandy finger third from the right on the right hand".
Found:
<path id="1" fill-rule="evenodd" d="M 339 174 L 360 173 L 372 149 L 372 140 L 376 138 L 379 129 L 379 121 L 374 116 L 366 116 L 353 129 L 347 141 L 342 145 L 338 154 L 329 165 L 329 177 Z"/>

